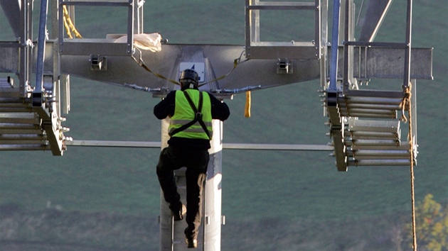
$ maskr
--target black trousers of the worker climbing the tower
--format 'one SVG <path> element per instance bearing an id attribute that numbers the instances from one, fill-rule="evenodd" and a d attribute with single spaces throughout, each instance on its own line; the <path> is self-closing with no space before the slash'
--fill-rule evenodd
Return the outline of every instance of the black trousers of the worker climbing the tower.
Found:
<path id="1" fill-rule="evenodd" d="M 195 150 L 188 147 L 169 146 L 161 151 L 156 172 L 164 199 L 174 211 L 178 210 L 181 196 L 177 192 L 174 170 L 186 167 L 186 223 L 188 238 L 198 238 L 201 225 L 203 182 L 209 160 L 208 150 Z"/>

